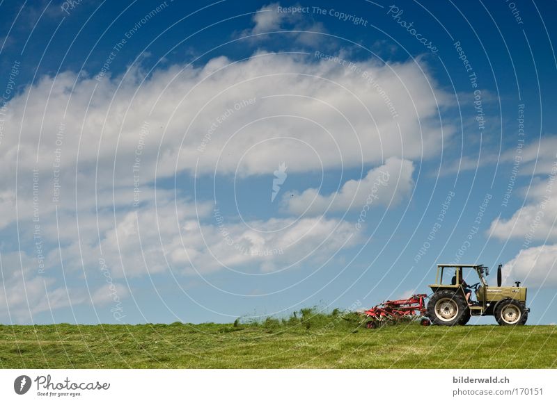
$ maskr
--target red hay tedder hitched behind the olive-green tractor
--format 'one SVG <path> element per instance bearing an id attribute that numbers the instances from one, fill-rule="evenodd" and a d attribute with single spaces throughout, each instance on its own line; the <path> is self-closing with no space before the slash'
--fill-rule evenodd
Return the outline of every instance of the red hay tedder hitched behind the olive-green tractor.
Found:
<path id="1" fill-rule="evenodd" d="M 430 320 L 425 318 L 425 294 L 414 294 L 407 299 L 396 299 L 395 301 L 385 301 L 373 308 L 363 312 L 368 329 L 375 329 L 382 324 L 398 323 L 405 320 L 422 317 L 420 323 L 423 326 L 431 324 Z"/>

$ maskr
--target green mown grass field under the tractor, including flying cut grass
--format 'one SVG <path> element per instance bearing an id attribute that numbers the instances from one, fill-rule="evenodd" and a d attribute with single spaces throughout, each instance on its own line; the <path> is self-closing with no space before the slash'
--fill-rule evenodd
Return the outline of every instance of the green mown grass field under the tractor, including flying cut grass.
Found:
<path id="1" fill-rule="evenodd" d="M 248 324 L 0 325 L 0 367 L 557 368 L 556 326 L 358 326 L 311 310 Z"/>

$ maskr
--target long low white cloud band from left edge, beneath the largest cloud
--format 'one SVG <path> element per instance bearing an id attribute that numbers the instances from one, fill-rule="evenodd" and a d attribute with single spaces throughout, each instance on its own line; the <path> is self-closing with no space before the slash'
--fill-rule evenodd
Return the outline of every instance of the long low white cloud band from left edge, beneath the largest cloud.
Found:
<path id="1" fill-rule="evenodd" d="M 156 205 L 154 195 L 146 192 L 141 206 L 133 211 L 101 211 L 98 229 L 97 211 L 81 208 L 79 233 L 75 214 L 59 215 L 58 226 L 54 215 L 43 217 L 42 240 L 56 245 L 59 236 L 61 248 L 43 251 L 44 274 L 38 274 L 34 250 L 29 255 L 22 252 L 22 263 L 18 252 L 1 255 L 0 315 L 7 318 L 9 308 L 16 322 L 33 322 L 37 313 L 70 304 L 112 304 L 113 290 L 105 284 L 100 258 L 106 262 L 118 300 L 123 300 L 129 296 L 118 281 L 123 277 L 163 274 L 168 268 L 173 274 L 187 276 L 196 272 L 206 275 L 225 267 L 245 272 L 271 272 L 291 266 L 316 268 L 336 252 L 362 240 L 353 223 L 324 217 L 246 223 L 228 217 L 217 220 L 211 204 L 201 202 L 196 206 L 183 199 L 175 204 L 169 193 L 173 194 L 157 192 Z M 20 227 L 22 240 L 33 239 L 31 232 L 26 236 L 24 226 Z M 68 289 L 56 279 L 60 257 L 65 276 L 72 283 Z M 22 293 L 24 286 L 26 295 Z"/>

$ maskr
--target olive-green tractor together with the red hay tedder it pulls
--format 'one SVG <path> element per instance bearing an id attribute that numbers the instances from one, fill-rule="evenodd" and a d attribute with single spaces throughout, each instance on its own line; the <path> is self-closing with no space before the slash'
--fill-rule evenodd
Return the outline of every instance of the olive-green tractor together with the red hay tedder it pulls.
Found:
<path id="1" fill-rule="evenodd" d="M 477 276 L 479 281 L 467 284 L 466 274 Z M 484 265 L 439 264 L 435 283 L 430 284 L 431 295 L 414 294 L 407 299 L 382 302 L 361 312 L 362 324 L 375 329 L 383 324 L 420 319 L 423 326 L 455 326 L 466 324 L 472 316 L 489 315 L 501 326 L 525 324 L 530 312 L 526 308 L 526 288 L 520 286 L 520 281 L 515 281 L 515 286 L 501 286 L 501 265 L 497 269 L 497 286 L 487 284 L 488 275 L 489 268 Z M 427 298 L 429 302 L 425 304 Z"/>

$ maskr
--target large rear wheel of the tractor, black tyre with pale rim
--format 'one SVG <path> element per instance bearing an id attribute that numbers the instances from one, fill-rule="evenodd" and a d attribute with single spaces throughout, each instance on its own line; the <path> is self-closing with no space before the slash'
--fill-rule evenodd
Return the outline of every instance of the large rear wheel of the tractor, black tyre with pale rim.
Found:
<path id="1" fill-rule="evenodd" d="M 433 324 L 443 326 L 457 326 L 470 318 L 470 309 L 464 295 L 453 290 L 439 290 L 427 302 L 427 317 Z M 465 323 L 465 322 L 464 322 Z"/>

